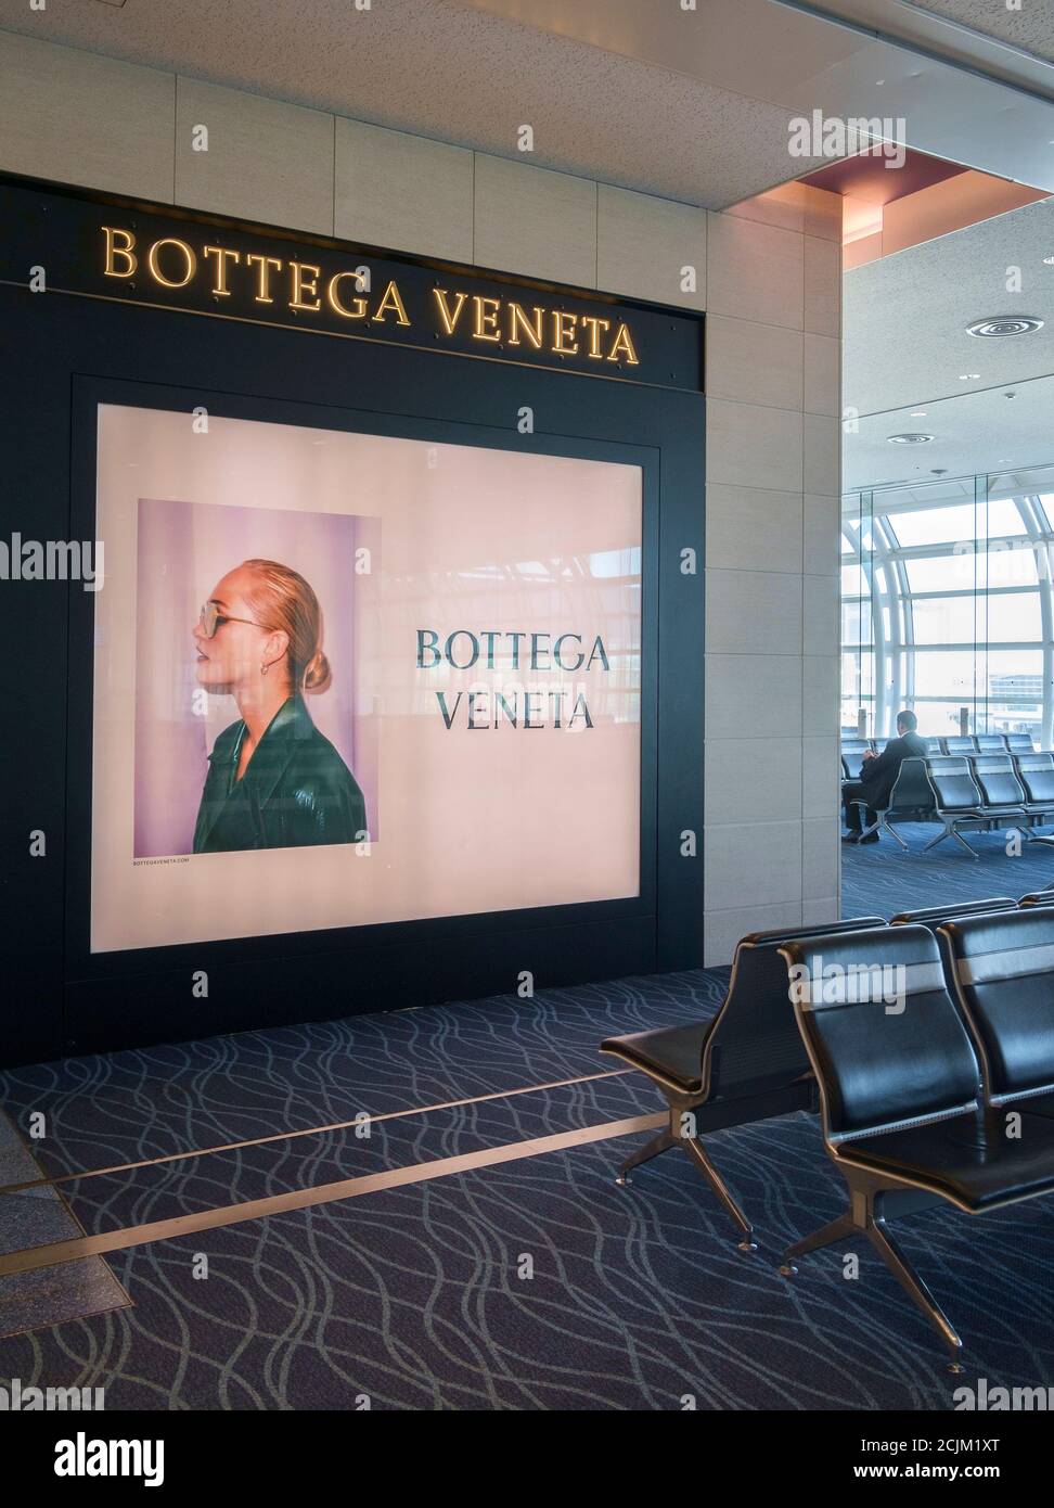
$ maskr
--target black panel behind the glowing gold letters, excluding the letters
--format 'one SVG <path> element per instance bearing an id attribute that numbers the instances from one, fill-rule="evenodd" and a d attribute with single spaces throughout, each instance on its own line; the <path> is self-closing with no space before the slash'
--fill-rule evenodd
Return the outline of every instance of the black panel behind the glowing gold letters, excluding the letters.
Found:
<path id="1" fill-rule="evenodd" d="M 5 225 L 5 235 L 0 238 L 0 284 L 23 287 L 29 268 L 45 264 L 48 288 L 53 293 L 81 294 L 140 308 L 195 312 L 210 318 L 249 320 L 276 329 L 296 329 L 353 342 L 457 353 L 472 360 L 547 366 L 553 371 L 588 375 L 593 380 L 680 388 L 688 392 L 703 389 L 701 317 L 680 309 L 671 314 L 665 306 L 642 299 L 615 299 L 591 288 L 571 288 L 513 273 L 386 252 L 360 243 L 338 241 L 329 235 L 252 225 L 173 205 L 136 204 L 118 196 L 92 195 L 83 188 L 54 184 L 36 185 L 12 173 L 0 173 L 0 222 Z M 139 267 L 128 276 L 104 273 L 103 226 L 107 225 L 136 240 Z M 321 267 L 320 288 L 332 271 L 347 273 L 365 264 L 377 293 L 389 279 L 397 280 L 409 324 L 392 323 L 391 318 L 380 324 L 372 318 L 362 323 L 348 321 L 333 314 L 321 296 L 320 309 L 306 306 L 293 309 L 288 305 L 291 288 L 285 288 L 285 279 L 279 273 L 274 273 L 271 299 L 261 303 L 252 296 L 253 279 L 247 277 L 244 262 L 235 264 L 237 276 L 231 273 L 228 291 L 220 299 L 210 287 L 210 274 L 204 268 L 201 255 L 198 273 L 188 285 L 164 287 L 146 270 L 145 256 L 149 244 L 169 237 L 187 238 L 188 244 L 198 240 L 198 252 L 204 250 L 204 243 L 213 246 L 222 243 L 240 256 L 264 253 L 282 261 L 285 271 L 306 255 L 318 256 L 318 264 L 308 267 L 311 271 Z M 42 249 L 47 250 L 47 256 Z M 624 321 L 632 329 L 638 362 L 632 366 L 611 365 L 606 360 L 597 363 L 585 350 L 558 354 L 544 347 L 535 351 L 522 339 L 510 341 L 507 330 L 496 336 L 473 335 L 469 327 L 470 314 L 467 320 L 458 318 L 457 329 L 451 333 L 442 327 L 443 321 L 434 305 L 434 290 L 445 284 L 451 284 L 448 302 L 455 297 L 454 290 L 492 300 L 514 299 L 528 308 L 540 300 L 549 315 L 546 323 L 549 339 L 552 339 L 550 321 L 555 311 L 609 318 L 612 324 Z"/>

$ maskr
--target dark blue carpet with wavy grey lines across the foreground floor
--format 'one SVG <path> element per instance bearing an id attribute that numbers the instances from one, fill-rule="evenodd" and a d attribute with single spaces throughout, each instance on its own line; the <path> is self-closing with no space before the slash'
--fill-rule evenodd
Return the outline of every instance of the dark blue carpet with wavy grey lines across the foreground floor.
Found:
<path id="1" fill-rule="evenodd" d="M 0 1075 L 0 1098 L 18 1125 L 48 1113 L 51 1136 L 35 1151 L 71 1172 L 611 1071 L 602 1036 L 698 1019 L 725 977 L 621 980 L 15 1069 Z M 397 1116 L 369 1139 L 315 1134 L 63 1188 L 84 1228 L 103 1231 L 654 1108 L 629 1074 Z M 867 1249 L 856 1280 L 841 1276 L 841 1247 L 804 1259 L 793 1282 L 775 1271 L 784 1244 L 841 1206 L 813 1117 L 710 1139 L 754 1218 L 754 1256 L 736 1250 L 682 1154 L 615 1187 L 636 1142 L 112 1255 L 133 1307 L 0 1341 L 0 1381 L 104 1386 L 110 1410 L 363 1398 L 424 1410 L 950 1405 L 936 1338 Z M 930 1211 L 899 1224 L 989 1386 L 1045 1383 L 1054 1369 L 1052 1214 L 1039 1200 L 979 1221 Z"/>

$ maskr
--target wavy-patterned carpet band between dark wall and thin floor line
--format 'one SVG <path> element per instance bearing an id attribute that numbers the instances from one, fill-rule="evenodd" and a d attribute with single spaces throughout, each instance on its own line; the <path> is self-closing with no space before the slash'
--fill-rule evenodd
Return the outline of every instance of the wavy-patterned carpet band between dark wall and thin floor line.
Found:
<path id="1" fill-rule="evenodd" d="M 50 1136 L 33 1149 L 51 1175 L 106 1167 L 611 1072 L 602 1038 L 700 1021 L 727 977 L 612 980 L 68 1059 L 0 1072 L 0 1104 L 20 1125 L 45 1113 Z"/>

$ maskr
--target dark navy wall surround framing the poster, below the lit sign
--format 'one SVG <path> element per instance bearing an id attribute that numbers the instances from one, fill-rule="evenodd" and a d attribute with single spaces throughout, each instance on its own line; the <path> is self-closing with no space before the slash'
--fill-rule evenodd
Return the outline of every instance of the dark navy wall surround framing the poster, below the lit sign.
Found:
<path id="1" fill-rule="evenodd" d="M 47 262 L 47 249 L 38 261 Z M 470 273 L 458 276 L 472 285 Z M 510 288 L 516 297 L 523 291 Z M 6 538 L 93 537 L 98 401 L 205 406 L 235 418 L 624 458 L 644 469 L 636 900 L 92 955 L 93 599 L 78 582 L 0 582 L 0 1065 L 472 998 L 513 991 L 522 970 L 544 988 L 701 962 L 698 392 L 11 285 L 0 287 L 0 318 Z M 671 330 L 683 323 L 671 317 Z M 688 323 L 701 336 L 698 323 Z M 517 433 L 523 406 L 535 422 L 525 436 Z M 695 552 L 695 573 L 683 570 L 685 550 Z M 45 834 L 45 857 L 30 857 L 35 829 Z M 697 835 L 695 857 L 682 852 L 686 829 Z M 196 970 L 208 971 L 208 998 L 191 992 Z"/>

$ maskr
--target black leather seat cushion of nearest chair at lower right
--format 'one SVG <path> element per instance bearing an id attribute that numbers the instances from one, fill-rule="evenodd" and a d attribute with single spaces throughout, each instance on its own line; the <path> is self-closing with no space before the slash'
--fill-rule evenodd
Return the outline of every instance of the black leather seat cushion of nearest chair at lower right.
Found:
<path id="1" fill-rule="evenodd" d="M 1022 1104 L 1021 1139 L 1000 1128 L 985 1133 L 973 1111 L 903 1131 L 853 1137 L 838 1158 L 879 1173 L 900 1173 L 967 1209 L 989 1209 L 1054 1190 L 1054 1122 Z"/>

